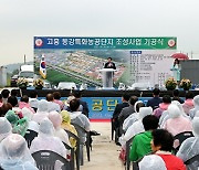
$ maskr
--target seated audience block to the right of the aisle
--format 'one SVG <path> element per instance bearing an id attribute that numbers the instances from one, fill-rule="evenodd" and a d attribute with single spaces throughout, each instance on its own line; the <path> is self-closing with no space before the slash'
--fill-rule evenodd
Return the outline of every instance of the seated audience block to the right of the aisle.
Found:
<path id="1" fill-rule="evenodd" d="M 197 163 L 186 166 L 186 161 L 199 155 L 199 95 L 187 92 L 185 100 L 178 89 L 172 96 L 159 95 L 155 88 L 145 104 L 137 96 L 122 96 L 112 119 L 115 144 L 122 147 L 119 159 L 124 164 L 127 159 L 138 163 L 140 170 L 197 170 Z M 186 131 L 192 135 L 179 145 L 175 136 Z"/>

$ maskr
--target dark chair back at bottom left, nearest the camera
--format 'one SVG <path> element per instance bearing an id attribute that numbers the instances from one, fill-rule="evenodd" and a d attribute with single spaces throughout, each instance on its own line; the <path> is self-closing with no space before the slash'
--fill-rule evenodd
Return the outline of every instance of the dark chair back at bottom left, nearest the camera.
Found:
<path id="1" fill-rule="evenodd" d="M 70 162 L 65 158 L 50 150 L 33 152 L 32 157 L 39 170 L 54 170 L 55 167 L 56 169 L 72 170 Z"/>

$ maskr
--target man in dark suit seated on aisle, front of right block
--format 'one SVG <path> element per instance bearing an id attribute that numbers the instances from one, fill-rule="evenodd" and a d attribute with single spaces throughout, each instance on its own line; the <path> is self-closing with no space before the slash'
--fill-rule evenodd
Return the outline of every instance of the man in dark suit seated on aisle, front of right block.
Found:
<path id="1" fill-rule="evenodd" d="M 115 130 L 115 142 L 118 144 L 118 137 L 121 136 L 119 134 L 119 121 L 118 121 L 118 116 L 124 107 L 128 107 L 128 100 L 129 100 L 129 95 L 124 94 L 122 96 L 122 104 L 117 104 L 115 107 L 115 110 L 113 113 L 113 118 L 112 118 L 112 124 L 113 128 Z"/>

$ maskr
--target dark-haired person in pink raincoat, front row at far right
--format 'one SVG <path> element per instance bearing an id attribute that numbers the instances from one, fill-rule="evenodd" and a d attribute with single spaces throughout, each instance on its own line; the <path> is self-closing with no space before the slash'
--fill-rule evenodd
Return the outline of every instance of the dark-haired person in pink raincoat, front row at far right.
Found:
<path id="1" fill-rule="evenodd" d="M 186 100 L 182 104 L 182 107 L 184 107 L 184 111 L 189 116 L 190 109 L 192 109 L 195 107 L 192 92 L 189 91 L 188 93 L 186 93 Z"/>

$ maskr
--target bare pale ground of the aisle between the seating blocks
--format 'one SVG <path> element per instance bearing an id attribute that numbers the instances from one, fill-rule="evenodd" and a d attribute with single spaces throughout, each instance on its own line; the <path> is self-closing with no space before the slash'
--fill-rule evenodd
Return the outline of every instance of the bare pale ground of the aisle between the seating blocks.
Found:
<path id="1" fill-rule="evenodd" d="M 96 130 L 101 136 L 93 137 L 90 162 L 84 151 L 84 166 L 81 166 L 81 170 L 124 170 L 124 166 L 118 160 L 121 147 L 111 140 L 111 123 L 92 123 L 91 129 Z"/>

